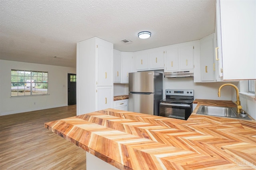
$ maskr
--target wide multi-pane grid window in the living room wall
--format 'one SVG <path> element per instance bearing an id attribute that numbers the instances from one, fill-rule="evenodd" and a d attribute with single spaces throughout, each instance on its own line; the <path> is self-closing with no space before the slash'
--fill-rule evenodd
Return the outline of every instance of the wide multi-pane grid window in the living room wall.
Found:
<path id="1" fill-rule="evenodd" d="M 48 94 L 48 72 L 11 70 L 11 96 Z"/>

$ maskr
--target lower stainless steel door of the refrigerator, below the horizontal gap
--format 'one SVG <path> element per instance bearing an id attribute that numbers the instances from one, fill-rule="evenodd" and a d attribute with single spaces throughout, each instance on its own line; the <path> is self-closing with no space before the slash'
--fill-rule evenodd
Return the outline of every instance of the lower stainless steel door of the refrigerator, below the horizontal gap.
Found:
<path id="1" fill-rule="evenodd" d="M 154 93 L 132 94 L 129 93 L 128 111 L 154 115 Z"/>

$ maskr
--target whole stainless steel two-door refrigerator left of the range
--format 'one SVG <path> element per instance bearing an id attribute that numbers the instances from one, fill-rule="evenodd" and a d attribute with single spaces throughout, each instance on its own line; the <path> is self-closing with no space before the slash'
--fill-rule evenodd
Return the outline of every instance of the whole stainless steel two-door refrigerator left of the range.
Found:
<path id="1" fill-rule="evenodd" d="M 159 115 L 163 98 L 163 74 L 156 71 L 129 73 L 128 111 Z"/>

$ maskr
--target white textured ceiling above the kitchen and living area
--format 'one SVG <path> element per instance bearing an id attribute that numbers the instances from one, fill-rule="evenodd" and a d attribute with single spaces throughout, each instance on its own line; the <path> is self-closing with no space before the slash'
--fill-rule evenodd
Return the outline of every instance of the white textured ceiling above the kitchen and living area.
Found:
<path id="1" fill-rule="evenodd" d="M 215 0 L 0 0 L 0 59 L 76 67 L 76 43 L 91 37 L 140 51 L 201 39 L 214 24 Z"/>

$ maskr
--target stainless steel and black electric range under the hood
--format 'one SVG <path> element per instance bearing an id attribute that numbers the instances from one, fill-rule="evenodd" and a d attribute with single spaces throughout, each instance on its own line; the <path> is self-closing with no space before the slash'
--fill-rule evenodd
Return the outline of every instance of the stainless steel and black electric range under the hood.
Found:
<path id="1" fill-rule="evenodd" d="M 159 116 L 187 120 L 192 113 L 194 90 L 166 89 L 165 95 L 159 103 Z"/>

